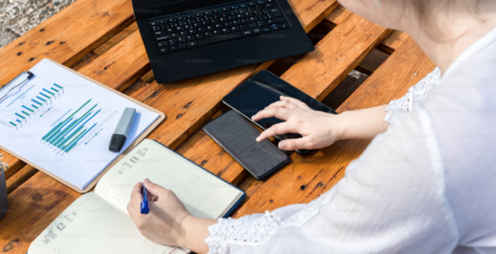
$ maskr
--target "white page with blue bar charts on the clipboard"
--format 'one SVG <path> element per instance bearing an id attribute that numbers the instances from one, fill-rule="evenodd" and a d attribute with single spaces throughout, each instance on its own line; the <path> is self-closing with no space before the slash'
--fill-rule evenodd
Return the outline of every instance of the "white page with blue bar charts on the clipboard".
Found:
<path id="1" fill-rule="evenodd" d="M 109 151 L 126 108 L 137 115 L 122 151 L 158 118 L 47 59 L 34 77 L 13 90 L 0 90 L 0 145 L 84 189 L 119 155 Z"/>

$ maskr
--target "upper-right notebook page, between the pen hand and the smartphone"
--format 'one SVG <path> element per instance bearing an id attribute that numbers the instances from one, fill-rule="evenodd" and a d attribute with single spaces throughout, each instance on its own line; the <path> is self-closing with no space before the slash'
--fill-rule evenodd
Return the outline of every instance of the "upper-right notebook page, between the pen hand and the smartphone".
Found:
<path id="1" fill-rule="evenodd" d="M 223 217 L 242 196 L 240 190 L 151 140 L 141 142 L 107 172 L 95 191 L 127 212 L 132 188 L 144 178 L 174 191 L 192 214 L 202 218 Z"/>

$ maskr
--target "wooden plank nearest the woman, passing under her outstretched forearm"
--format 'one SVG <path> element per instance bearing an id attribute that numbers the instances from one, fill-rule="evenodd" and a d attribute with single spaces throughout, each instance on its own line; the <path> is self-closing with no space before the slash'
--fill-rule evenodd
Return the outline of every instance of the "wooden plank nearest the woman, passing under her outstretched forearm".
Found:
<path id="1" fill-rule="evenodd" d="M 434 67 L 417 44 L 409 40 L 339 107 L 338 112 L 380 106 L 402 97 Z M 293 154 L 292 163 L 259 187 L 235 217 L 305 203 L 317 198 L 344 176 L 347 165 L 362 154 L 368 143 L 341 141 L 309 156 Z"/>

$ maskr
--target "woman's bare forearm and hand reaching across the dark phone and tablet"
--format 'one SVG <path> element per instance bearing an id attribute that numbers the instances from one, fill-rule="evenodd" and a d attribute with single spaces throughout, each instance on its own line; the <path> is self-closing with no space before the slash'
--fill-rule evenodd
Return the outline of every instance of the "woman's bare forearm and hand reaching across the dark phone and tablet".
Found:
<path id="1" fill-rule="evenodd" d="M 302 139 L 282 141 L 279 148 L 315 150 L 330 146 L 339 140 L 371 140 L 377 134 L 386 132 L 388 130 L 388 123 L 385 121 L 386 107 L 330 114 L 314 111 L 300 100 L 281 97 L 281 101 L 255 114 L 252 120 L 278 118 L 285 121 L 267 129 L 257 139 L 259 142 L 274 135 L 300 133 Z"/>

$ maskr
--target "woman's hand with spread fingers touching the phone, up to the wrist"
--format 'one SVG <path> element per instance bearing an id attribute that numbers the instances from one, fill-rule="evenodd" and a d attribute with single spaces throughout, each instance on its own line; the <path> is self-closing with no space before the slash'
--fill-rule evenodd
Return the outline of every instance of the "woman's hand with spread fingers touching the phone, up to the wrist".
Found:
<path id="1" fill-rule="evenodd" d="M 257 139 L 258 142 L 287 133 L 299 133 L 303 136 L 279 142 L 279 148 L 285 151 L 326 147 L 339 140 L 343 133 L 338 115 L 314 111 L 300 100 L 289 97 L 281 96 L 280 101 L 255 114 L 252 120 L 266 118 L 278 118 L 285 122 L 267 129 Z"/>

